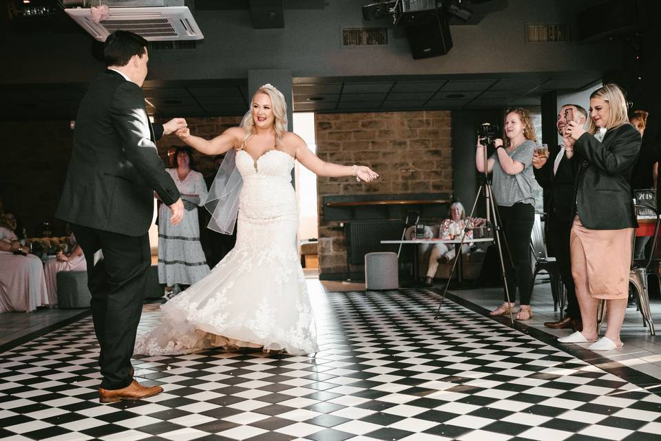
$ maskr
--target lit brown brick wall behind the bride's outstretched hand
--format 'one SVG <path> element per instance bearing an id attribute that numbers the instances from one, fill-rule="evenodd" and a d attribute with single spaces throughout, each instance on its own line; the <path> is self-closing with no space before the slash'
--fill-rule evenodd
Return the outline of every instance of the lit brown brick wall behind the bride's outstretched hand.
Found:
<path id="1" fill-rule="evenodd" d="M 319 177 L 319 271 L 346 272 L 344 232 L 324 220 L 330 195 L 452 193 L 450 112 L 317 114 L 317 154 L 324 161 L 372 167 L 376 183 Z M 352 268 L 361 271 L 361 267 Z"/>

